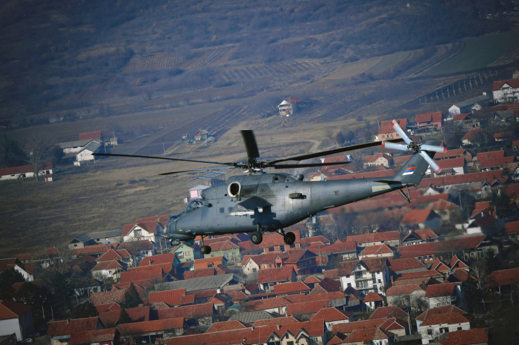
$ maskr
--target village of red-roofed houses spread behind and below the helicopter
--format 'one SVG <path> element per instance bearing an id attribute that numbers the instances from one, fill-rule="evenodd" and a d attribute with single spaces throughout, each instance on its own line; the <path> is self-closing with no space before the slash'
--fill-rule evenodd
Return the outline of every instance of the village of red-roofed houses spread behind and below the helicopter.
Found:
<path id="1" fill-rule="evenodd" d="M 210 254 L 163 237 L 169 214 L 135 215 L 114 231 L 0 260 L 2 344 L 486 344 L 516 337 L 519 297 L 519 71 L 443 112 L 397 118 L 413 140 L 441 138 L 439 173 L 405 197 L 388 193 L 330 209 L 256 246 L 214 236 Z M 297 116 L 292 97 L 280 116 Z M 398 138 L 381 121 L 373 140 Z M 182 139 L 211 140 L 200 130 Z M 214 138 L 213 138 L 214 140 Z M 115 135 L 60 145 L 71 164 L 94 161 Z M 361 161 L 327 157 L 308 180 L 394 174 L 407 157 L 383 150 Z M 72 163 L 73 162 L 73 163 Z M 350 163 L 351 162 L 351 163 Z M 36 172 L 52 181 L 52 165 Z M 33 166 L 0 169 L 0 181 Z M 214 180 L 217 180 L 216 182 Z M 188 196 L 225 181 L 206 174 Z M 514 330 L 512 332 L 511 330 Z"/>

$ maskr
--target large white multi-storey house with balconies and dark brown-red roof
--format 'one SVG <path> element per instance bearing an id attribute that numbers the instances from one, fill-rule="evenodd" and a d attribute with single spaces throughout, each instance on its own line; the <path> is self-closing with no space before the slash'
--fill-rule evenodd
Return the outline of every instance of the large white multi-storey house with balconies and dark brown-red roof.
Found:
<path id="1" fill-rule="evenodd" d="M 390 280 L 386 257 L 342 262 L 338 273 L 343 290 L 353 287 L 364 294 L 370 292 L 384 294 L 384 286 Z"/>

